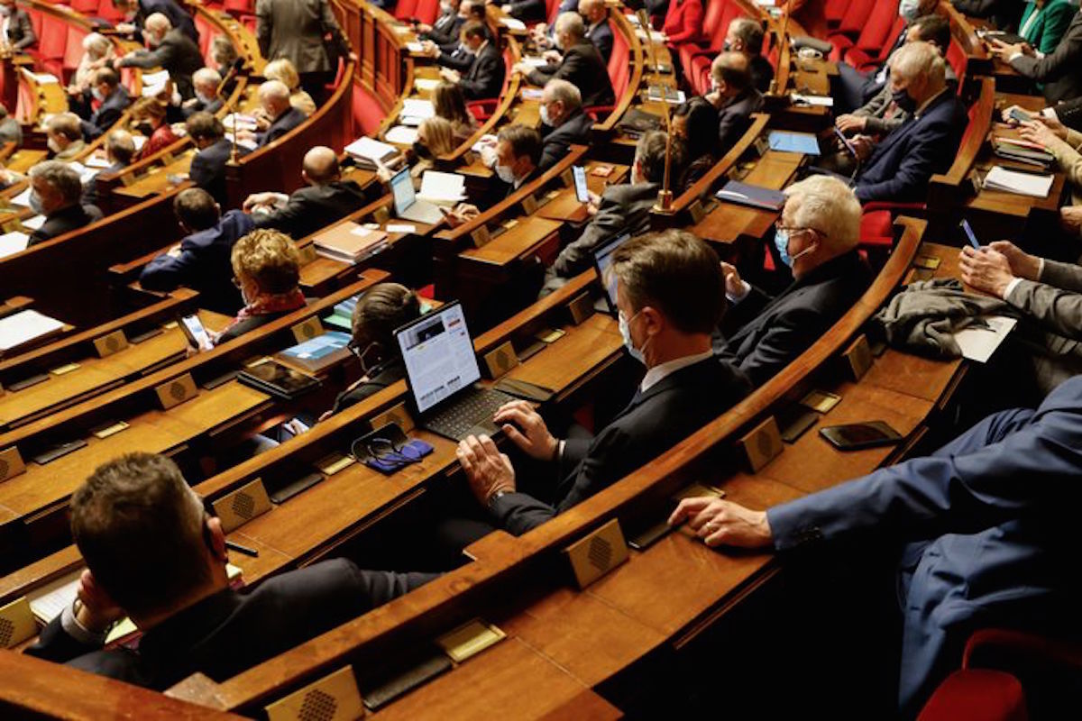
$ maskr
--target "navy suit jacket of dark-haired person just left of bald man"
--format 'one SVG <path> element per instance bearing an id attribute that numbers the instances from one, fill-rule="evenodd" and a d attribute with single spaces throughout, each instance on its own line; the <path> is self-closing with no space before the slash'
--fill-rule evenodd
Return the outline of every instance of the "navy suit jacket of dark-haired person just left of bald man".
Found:
<path id="1" fill-rule="evenodd" d="M 222 313 L 235 313 L 243 302 L 233 285 L 229 254 L 233 244 L 252 231 L 255 222 L 240 211 L 229 211 L 217 225 L 194 232 L 181 241 L 181 253 L 162 254 L 150 261 L 140 275 L 148 291 L 172 291 L 181 285 L 199 291 L 200 304 Z"/>

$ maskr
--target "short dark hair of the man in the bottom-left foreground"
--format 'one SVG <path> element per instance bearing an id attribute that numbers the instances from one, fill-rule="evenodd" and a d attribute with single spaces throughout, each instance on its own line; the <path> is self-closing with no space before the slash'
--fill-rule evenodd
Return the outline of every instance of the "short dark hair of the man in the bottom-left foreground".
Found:
<path id="1" fill-rule="evenodd" d="M 166 456 L 98 466 L 71 496 L 71 536 L 94 579 L 124 611 L 170 609 L 210 582 L 203 510 Z"/>

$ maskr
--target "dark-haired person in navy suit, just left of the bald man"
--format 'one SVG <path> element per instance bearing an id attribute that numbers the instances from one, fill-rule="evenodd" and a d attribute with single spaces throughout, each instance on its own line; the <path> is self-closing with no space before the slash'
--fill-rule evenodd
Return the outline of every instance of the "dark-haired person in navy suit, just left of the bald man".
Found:
<path id="1" fill-rule="evenodd" d="M 146 264 L 140 284 L 163 292 L 184 285 L 199 291 L 201 307 L 236 313 L 242 302 L 233 284 L 230 257 L 237 240 L 255 229 L 251 216 L 236 210 L 223 215 L 222 206 L 199 188 L 181 190 L 173 212 L 185 238 Z"/>

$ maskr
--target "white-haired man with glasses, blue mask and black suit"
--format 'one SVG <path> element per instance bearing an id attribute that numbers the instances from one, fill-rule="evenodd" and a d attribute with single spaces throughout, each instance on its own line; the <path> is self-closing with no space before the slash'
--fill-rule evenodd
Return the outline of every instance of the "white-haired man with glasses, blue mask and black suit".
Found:
<path id="1" fill-rule="evenodd" d="M 773 378 L 853 307 L 871 283 L 857 253 L 860 203 L 842 181 L 813 175 L 784 190 L 774 243 L 793 282 L 770 297 L 723 263 L 735 304 L 714 336 L 714 350 L 756 387 Z"/>

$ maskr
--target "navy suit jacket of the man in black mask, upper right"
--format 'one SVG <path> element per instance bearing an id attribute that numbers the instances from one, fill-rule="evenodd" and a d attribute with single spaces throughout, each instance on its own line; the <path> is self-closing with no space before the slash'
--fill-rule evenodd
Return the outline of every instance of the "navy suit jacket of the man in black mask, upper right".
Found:
<path id="1" fill-rule="evenodd" d="M 954 161 L 968 123 L 965 106 L 944 91 L 920 116 L 914 116 L 875 144 L 857 174 L 857 198 L 898 202 L 921 201 L 928 179 Z"/>

